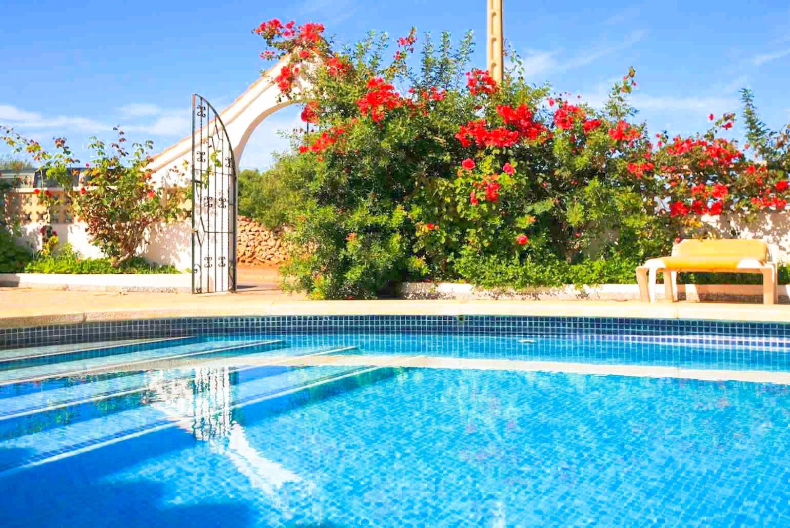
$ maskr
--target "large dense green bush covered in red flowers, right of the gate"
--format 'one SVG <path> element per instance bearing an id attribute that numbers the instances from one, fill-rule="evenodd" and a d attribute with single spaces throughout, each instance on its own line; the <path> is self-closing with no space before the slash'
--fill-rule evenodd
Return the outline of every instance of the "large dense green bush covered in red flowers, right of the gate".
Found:
<path id="1" fill-rule="evenodd" d="M 676 238 L 709 234 L 705 215 L 787 204 L 787 131 L 770 133 L 748 92 L 744 148 L 724 137 L 733 114 L 711 115 L 698 137 L 651 136 L 628 103 L 634 69 L 596 109 L 526 84 L 517 57 L 498 84 L 469 65 L 471 36 L 453 47 L 427 35 L 418 60 L 414 29 L 340 51 L 323 29 L 255 30 L 274 50 L 263 58 L 288 57 L 274 81 L 317 125 L 294 137 L 286 170 L 303 200 L 292 236 L 310 251 L 283 270 L 317 298 L 370 298 L 418 277 L 633 282 Z"/>

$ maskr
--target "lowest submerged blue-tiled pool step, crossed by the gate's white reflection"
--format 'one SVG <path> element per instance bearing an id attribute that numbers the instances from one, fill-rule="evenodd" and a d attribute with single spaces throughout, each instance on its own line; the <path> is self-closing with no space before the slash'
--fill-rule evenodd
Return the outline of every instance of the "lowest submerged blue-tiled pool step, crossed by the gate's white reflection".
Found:
<path id="1" fill-rule="evenodd" d="M 399 358 L 393 361 L 393 366 L 410 358 Z M 201 437 L 206 434 L 202 432 L 210 429 L 209 436 L 216 434 L 217 429 L 222 429 L 227 422 L 225 418 L 230 418 L 228 413 L 234 410 L 245 409 L 244 421 L 258 420 L 315 399 L 330 397 L 338 391 L 391 377 L 394 372 L 383 367 L 313 367 L 299 370 L 312 373 L 303 374 L 299 384 L 290 383 L 292 380 L 280 373 L 280 377 L 269 378 L 277 383 L 258 391 L 245 392 L 240 399 L 228 399 L 222 390 L 228 384 L 208 376 L 203 386 L 213 387 L 213 391 L 198 393 L 197 400 L 175 391 L 166 401 L 0 441 L 0 475 L 176 426 L 194 434 L 198 440 L 205 440 L 208 436 Z M 185 399 L 179 402 L 182 396 Z M 19 450 L 27 451 L 28 457 L 23 460 L 2 459 L 3 452 Z"/>

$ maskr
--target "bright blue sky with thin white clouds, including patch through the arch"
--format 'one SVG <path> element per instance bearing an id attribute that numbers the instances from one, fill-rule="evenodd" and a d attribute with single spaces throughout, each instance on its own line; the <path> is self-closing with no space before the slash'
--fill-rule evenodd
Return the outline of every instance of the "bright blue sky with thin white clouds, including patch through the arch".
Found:
<path id="1" fill-rule="evenodd" d="M 116 123 L 163 150 L 190 133 L 190 94 L 219 110 L 260 75 L 261 21 L 320 21 L 340 42 L 369 29 L 404 36 L 472 29 L 483 67 L 486 0 L 312 0 L 303 2 L 54 2 L 6 0 L 2 8 L 0 124 L 51 144 L 66 136 L 87 157 L 88 137 Z M 272 6 L 276 4 L 278 6 Z M 590 6 L 593 4 L 593 6 Z M 526 2 L 505 0 L 505 37 L 536 83 L 600 103 L 628 66 L 634 104 L 656 132 L 693 133 L 706 116 L 739 108 L 737 90 L 757 96 L 774 128 L 790 122 L 790 5 L 734 2 Z M 299 125 L 280 110 L 250 140 L 241 167 L 266 167 L 284 148 L 278 129 Z M 738 127 L 733 129 L 735 136 Z M 0 150 L 0 153 L 7 152 Z"/>

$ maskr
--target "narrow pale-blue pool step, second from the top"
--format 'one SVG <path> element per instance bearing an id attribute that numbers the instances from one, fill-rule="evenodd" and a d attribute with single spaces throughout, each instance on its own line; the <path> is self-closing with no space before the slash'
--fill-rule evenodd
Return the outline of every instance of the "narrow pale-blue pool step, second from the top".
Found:
<path id="1" fill-rule="evenodd" d="M 48 380 L 63 376 L 85 376 L 107 372 L 108 370 L 145 369 L 152 361 L 190 358 L 201 354 L 213 354 L 224 350 L 235 350 L 249 346 L 266 346 L 283 343 L 281 339 L 249 341 L 232 339 L 228 341 L 198 341 L 176 346 L 158 347 L 153 350 L 138 350 L 123 354 L 100 355 L 73 361 L 55 361 L 47 365 L 22 366 L 0 372 L 0 386 L 30 381 Z"/>

